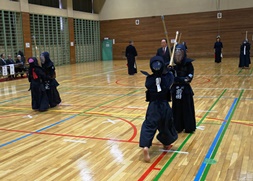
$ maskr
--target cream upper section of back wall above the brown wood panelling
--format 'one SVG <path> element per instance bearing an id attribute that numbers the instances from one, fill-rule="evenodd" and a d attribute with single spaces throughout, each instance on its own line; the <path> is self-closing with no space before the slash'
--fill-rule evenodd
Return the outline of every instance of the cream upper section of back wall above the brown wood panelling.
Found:
<path id="1" fill-rule="evenodd" d="M 249 7 L 253 7 L 253 0 L 106 0 L 99 19 L 150 17 Z"/>

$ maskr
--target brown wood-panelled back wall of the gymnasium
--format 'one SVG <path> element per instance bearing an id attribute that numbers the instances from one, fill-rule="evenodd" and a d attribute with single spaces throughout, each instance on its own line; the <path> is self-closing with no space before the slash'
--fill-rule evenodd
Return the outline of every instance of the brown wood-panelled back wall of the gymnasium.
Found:
<path id="1" fill-rule="evenodd" d="M 249 0 L 247 2 L 253 4 L 253 1 Z M 214 4 L 210 4 L 211 6 L 215 9 Z M 234 6 L 230 4 L 227 7 Z M 212 8 L 209 8 L 209 10 Z M 113 7 L 111 9 L 113 10 Z M 122 12 L 122 15 L 118 15 L 117 18 L 122 19 L 101 20 L 101 40 L 104 37 L 115 40 L 115 44 L 113 45 L 114 60 L 124 59 L 125 47 L 128 45 L 129 40 L 135 42 L 138 59 L 149 59 L 156 53 L 157 48 L 160 47 L 160 40 L 165 38 L 161 15 L 152 15 L 155 13 L 150 12 L 148 16 L 146 13 L 141 15 L 139 12 L 129 12 L 131 18 L 126 18 L 126 14 L 124 14 L 125 9 L 119 8 L 117 10 Z M 102 11 L 105 10 L 103 9 Z M 172 13 L 173 11 L 168 12 Z M 253 44 L 253 8 L 228 8 L 228 10 L 222 10 L 220 11 L 222 13 L 221 19 L 217 19 L 217 12 L 210 10 L 206 12 L 168 13 L 169 15 L 164 15 L 169 39 L 174 39 L 176 31 L 180 31 L 182 33 L 181 42 L 187 42 L 189 57 L 214 57 L 213 45 L 216 41 L 216 36 L 220 35 L 224 46 L 223 56 L 238 57 L 239 47 L 245 39 L 246 31 L 248 31 L 247 38 Z M 100 18 L 102 15 L 103 13 L 99 15 Z M 147 16 L 141 17 L 144 15 Z M 109 18 L 109 15 L 107 17 Z M 139 20 L 139 25 L 136 25 L 136 20 Z"/>

